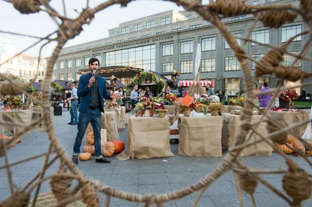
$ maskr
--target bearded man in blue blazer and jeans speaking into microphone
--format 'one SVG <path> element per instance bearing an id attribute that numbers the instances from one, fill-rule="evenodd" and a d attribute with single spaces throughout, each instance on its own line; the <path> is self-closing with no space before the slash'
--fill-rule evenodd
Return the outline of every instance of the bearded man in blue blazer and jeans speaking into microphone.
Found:
<path id="1" fill-rule="evenodd" d="M 96 74 L 100 61 L 96 58 L 89 60 L 90 73 L 82 75 L 79 79 L 77 95 L 82 97 L 79 107 L 78 133 L 73 145 L 72 162 L 78 164 L 78 155 L 86 129 L 91 122 L 94 133 L 96 162 L 110 163 L 101 153 L 101 112 L 104 112 L 103 98 L 118 98 L 118 94 L 111 94 L 106 90 L 105 79 Z"/>

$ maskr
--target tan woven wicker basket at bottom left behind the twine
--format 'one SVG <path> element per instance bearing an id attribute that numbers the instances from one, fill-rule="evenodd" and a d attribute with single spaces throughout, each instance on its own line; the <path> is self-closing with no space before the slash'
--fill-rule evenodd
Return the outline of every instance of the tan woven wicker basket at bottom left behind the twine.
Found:
<path id="1" fill-rule="evenodd" d="M 40 206 L 52 206 L 57 203 L 57 200 L 55 199 L 53 193 L 50 192 L 44 192 L 38 195 L 36 200 L 35 207 Z M 31 207 L 33 205 L 33 200 L 29 201 L 28 207 Z M 68 203 L 66 207 L 86 207 L 87 205 L 83 203 L 81 200 L 76 200 L 71 203 Z"/>

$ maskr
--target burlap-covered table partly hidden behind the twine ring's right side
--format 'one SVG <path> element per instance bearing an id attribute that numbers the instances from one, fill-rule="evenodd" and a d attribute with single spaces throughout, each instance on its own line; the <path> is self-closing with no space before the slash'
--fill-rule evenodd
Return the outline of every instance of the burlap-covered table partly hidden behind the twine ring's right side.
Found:
<path id="1" fill-rule="evenodd" d="M 223 147 L 232 147 L 236 141 L 237 135 L 241 132 L 241 124 L 242 121 L 240 119 L 240 115 L 232 115 L 229 113 L 222 113 L 223 116 L 223 128 L 222 128 L 222 146 Z M 263 115 L 253 115 L 251 124 L 257 123 Z M 257 128 L 258 132 L 266 137 L 268 131 L 266 129 L 266 122 L 262 122 Z M 251 132 L 250 132 L 251 133 Z M 247 135 L 247 138 L 249 135 Z M 259 136 L 253 134 L 250 138 L 251 141 L 256 139 L 260 139 Z M 272 147 L 266 142 L 260 142 L 258 144 L 252 145 L 250 147 L 245 148 L 242 151 L 242 156 L 246 155 L 271 155 Z"/>

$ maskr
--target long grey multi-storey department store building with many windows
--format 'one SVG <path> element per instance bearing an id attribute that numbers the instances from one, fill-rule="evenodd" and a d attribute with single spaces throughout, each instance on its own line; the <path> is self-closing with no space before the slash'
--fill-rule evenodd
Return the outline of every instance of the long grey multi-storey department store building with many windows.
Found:
<path id="1" fill-rule="evenodd" d="M 299 1 L 293 0 L 259 0 L 246 1 L 247 4 L 292 4 L 299 7 Z M 244 15 L 235 18 L 223 18 L 222 22 L 237 37 L 245 37 L 250 31 L 255 18 Z M 279 29 L 264 27 L 260 22 L 256 24 L 251 38 L 258 45 L 248 42 L 245 46 L 250 57 L 259 60 L 269 48 L 266 44 L 279 46 L 293 35 L 308 30 L 307 25 L 297 18 Z M 299 53 L 307 41 L 306 36 L 298 36 L 288 47 L 293 53 Z M 238 39 L 243 45 L 243 40 Z M 100 60 L 101 66 L 128 65 L 144 68 L 146 71 L 156 71 L 169 74 L 173 70 L 180 72 L 180 80 L 194 79 L 194 64 L 197 45 L 201 45 L 200 78 L 214 82 L 215 90 L 225 91 L 234 95 L 244 92 L 244 78 L 240 64 L 229 49 L 227 42 L 219 31 L 209 22 L 197 16 L 194 12 L 167 11 L 148 17 L 125 22 L 118 28 L 109 30 L 109 37 L 63 48 L 53 72 L 54 79 L 78 79 L 78 69 L 88 68 L 91 57 Z M 306 56 L 311 57 L 309 50 Z M 282 64 L 291 65 L 293 57 L 284 56 Z M 250 63 L 252 73 L 255 66 Z M 312 63 L 298 62 L 304 71 L 312 72 Z M 255 78 L 260 84 L 268 81 L 275 87 L 277 78 L 274 75 Z M 309 80 L 299 80 L 303 84 Z M 305 87 L 312 91 L 311 86 Z M 298 92 L 300 89 L 298 88 Z"/>

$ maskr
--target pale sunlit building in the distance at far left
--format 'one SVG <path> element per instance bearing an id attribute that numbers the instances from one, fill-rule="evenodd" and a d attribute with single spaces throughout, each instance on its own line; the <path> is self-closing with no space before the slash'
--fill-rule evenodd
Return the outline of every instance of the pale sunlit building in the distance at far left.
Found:
<path id="1" fill-rule="evenodd" d="M 14 43 L 0 37 L 0 63 L 10 59 L 16 54 Z M 36 81 L 42 81 L 46 70 L 46 59 L 41 58 L 38 63 L 38 57 L 27 54 L 20 54 L 12 60 L 0 65 L 0 72 L 6 75 L 16 75 L 25 82 L 33 80 L 36 76 L 37 66 L 38 76 Z"/>

